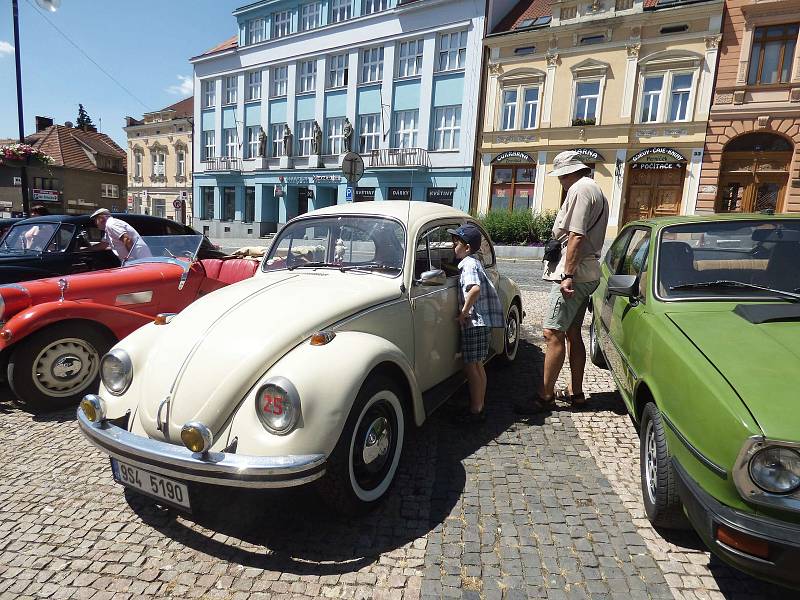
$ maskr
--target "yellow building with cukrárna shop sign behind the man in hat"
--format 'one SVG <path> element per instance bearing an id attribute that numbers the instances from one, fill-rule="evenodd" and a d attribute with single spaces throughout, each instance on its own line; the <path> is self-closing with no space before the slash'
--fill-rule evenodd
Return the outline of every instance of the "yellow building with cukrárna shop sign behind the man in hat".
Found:
<path id="1" fill-rule="evenodd" d="M 474 206 L 558 209 L 556 154 L 578 150 L 611 203 L 608 235 L 695 212 L 722 0 L 523 0 L 486 36 Z"/>

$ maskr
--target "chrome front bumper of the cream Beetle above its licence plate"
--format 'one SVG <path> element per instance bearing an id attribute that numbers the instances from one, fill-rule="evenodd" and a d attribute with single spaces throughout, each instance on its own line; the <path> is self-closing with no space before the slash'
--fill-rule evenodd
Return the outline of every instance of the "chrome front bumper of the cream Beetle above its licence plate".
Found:
<path id="1" fill-rule="evenodd" d="M 244 488 L 302 485 L 325 474 L 324 454 L 246 456 L 192 453 L 188 448 L 136 435 L 109 423 L 94 424 L 79 408 L 83 434 L 109 456 L 175 479 Z"/>

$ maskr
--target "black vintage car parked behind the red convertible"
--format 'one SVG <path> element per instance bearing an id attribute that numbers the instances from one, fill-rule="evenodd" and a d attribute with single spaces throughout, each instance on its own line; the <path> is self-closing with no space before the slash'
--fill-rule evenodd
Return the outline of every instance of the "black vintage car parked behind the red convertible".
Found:
<path id="1" fill-rule="evenodd" d="M 139 235 L 200 235 L 187 225 L 147 215 L 112 216 L 129 223 Z M 48 215 L 12 225 L 0 239 L 0 284 L 84 273 L 120 266 L 111 250 L 92 251 L 103 237 L 89 215 Z M 220 258 L 225 253 L 203 238 L 198 258 Z"/>

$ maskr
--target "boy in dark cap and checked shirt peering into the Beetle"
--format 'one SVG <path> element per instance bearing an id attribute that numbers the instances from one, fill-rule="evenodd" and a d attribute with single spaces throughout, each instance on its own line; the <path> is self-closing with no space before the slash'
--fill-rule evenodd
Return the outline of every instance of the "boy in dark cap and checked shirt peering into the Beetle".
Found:
<path id="1" fill-rule="evenodd" d="M 476 255 L 481 249 L 481 232 L 474 225 L 448 229 L 453 250 L 459 259 L 458 322 L 461 324 L 461 360 L 469 385 L 469 409 L 459 420 L 480 423 L 486 420 L 486 370 L 483 361 L 489 354 L 492 327 L 505 327 L 503 307 L 497 290 L 486 276 Z"/>

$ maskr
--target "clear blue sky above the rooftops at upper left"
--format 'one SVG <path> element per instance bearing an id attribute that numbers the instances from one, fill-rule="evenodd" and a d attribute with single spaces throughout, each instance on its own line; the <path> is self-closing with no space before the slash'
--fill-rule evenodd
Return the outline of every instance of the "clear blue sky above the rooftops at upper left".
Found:
<path id="1" fill-rule="evenodd" d="M 82 103 L 95 125 L 125 146 L 125 116 L 141 117 L 191 95 L 189 57 L 236 33 L 242 0 L 62 0 L 46 13 L 128 95 L 53 29 L 35 0 L 19 0 L 25 132 L 36 115 L 75 121 Z M 0 0 L 0 138 L 16 138 L 11 0 Z M 143 104 L 142 104 L 143 103 Z"/>

